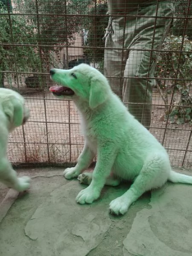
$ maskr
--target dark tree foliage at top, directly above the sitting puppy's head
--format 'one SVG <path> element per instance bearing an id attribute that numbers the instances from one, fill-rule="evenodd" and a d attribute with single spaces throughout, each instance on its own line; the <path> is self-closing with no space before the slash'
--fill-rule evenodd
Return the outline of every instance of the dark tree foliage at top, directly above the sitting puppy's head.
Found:
<path id="1" fill-rule="evenodd" d="M 35 1 L 25 1 L 19 4 L 20 10 L 25 9 L 30 14 L 38 13 L 38 16 L 29 16 L 30 22 L 38 26 L 39 36 L 38 41 L 41 44 L 56 45 L 56 44 L 73 44 L 75 40 L 74 34 L 79 31 L 80 17 L 77 14 L 81 13 L 84 4 L 90 2 L 88 0 L 68 0 L 67 4 L 64 0 L 45 1 L 38 0 L 38 6 Z M 41 15 L 42 13 L 46 15 Z M 74 15 L 74 16 L 65 16 Z"/>

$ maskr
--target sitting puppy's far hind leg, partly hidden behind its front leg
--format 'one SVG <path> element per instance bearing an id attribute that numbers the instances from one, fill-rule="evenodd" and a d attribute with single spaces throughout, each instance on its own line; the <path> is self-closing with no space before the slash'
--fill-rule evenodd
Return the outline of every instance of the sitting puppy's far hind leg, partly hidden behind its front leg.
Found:
<path id="1" fill-rule="evenodd" d="M 79 180 L 80 183 L 90 185 L 92 177 L 93 177 L 92 172 L 84 172 L 80 174 L 77 179 Z M 118 186 L 120 183 L 121 183 L 120 180 L 111 176 L 109 176 L 105 181 L 106 186 Z"/>

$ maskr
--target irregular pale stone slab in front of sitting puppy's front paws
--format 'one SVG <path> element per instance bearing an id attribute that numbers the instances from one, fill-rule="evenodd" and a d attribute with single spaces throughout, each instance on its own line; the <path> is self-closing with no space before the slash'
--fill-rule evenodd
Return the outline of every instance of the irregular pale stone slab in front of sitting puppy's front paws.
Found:
<path id="1" fill-rule="evenodd" d="M 101 207 L 76 204 L 78 190 L 76 180 L 55 189 L 27 222 L 25 234 L 36 241 L 36 247 L 44 248 L 42 256 L 50 251 L 52 255 L 85 256 L 108 231 L 111 221 Z"/>

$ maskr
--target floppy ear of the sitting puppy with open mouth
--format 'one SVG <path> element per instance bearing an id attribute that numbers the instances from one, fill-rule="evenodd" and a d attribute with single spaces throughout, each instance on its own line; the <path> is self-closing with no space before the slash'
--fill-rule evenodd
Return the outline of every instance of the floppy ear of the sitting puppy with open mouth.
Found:
<path id="1" fill-rule="evenodd" d="M 90 108 L 96 108 L 102 103 L 104 103 L 109 96 L 110 86 L 107 79 L 103 77 L 102 79 L 93 78 L 90 81 L 90 96 L 89 105 Z"/>

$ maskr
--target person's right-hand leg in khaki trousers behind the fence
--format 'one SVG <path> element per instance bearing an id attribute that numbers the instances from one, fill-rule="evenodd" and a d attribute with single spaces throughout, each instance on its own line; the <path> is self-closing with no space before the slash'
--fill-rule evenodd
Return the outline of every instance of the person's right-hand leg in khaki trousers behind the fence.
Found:
<path id="1" fill-rule="evenodd" d="M 142 8 L 136 21 L 134 39 L 129 45 L 130 50 L 124 72 L 123 102 L 136 119 L 149 129 L 151 123 L 151 100 L 154 70 L 157 55 L 150 49 L 160 49 L 172 23 L 174 6 L 172 3 L 159 3 Z M 148 17 L 154 16 L 154 17 Z M 160 18 L 155 18 L 159 16 Z M 129 24 L 126 32 L 128 33 Z M 138 49 L 138 50 L 137 50 Z"/>

